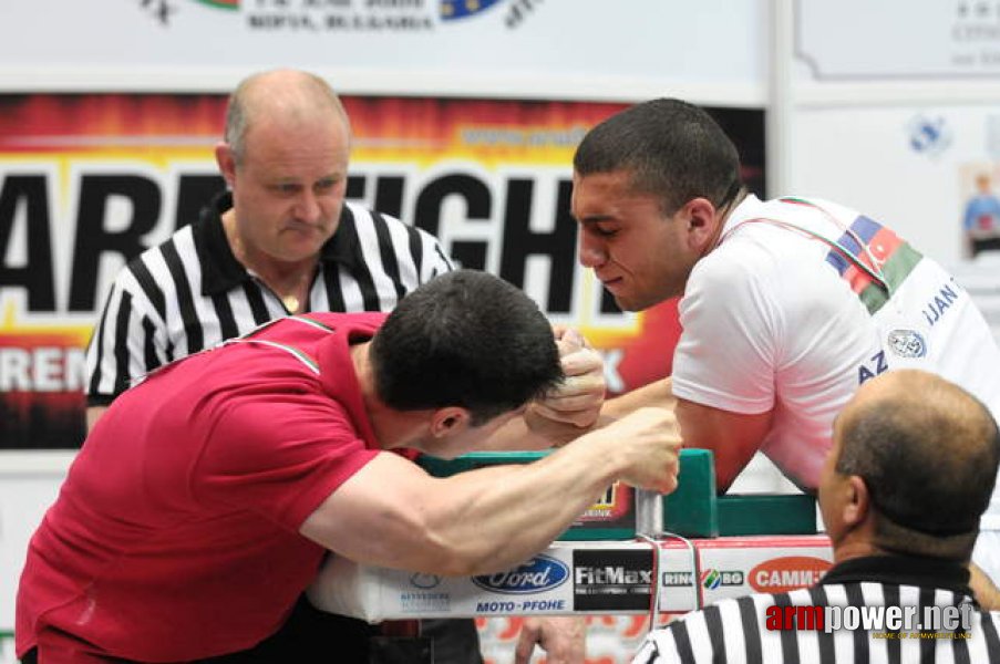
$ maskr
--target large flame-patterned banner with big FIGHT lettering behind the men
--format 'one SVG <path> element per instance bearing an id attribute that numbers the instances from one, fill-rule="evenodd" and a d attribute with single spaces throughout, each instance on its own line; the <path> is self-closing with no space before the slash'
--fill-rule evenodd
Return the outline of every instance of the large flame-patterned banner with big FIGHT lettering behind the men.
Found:
<path id="1" fill-rule="evenodd" d="M 221 188 L 224 95 L 0 95 L 0 447 L 83 438 L 83 349 L 125 262 Z M 621 104 L 347 97 L 348 197 L 436 235 L 602 353 L 612 393 L 669 373 L 674 302 L 623 314 L 576 260 L 570 163 Z M 762 154 L 760 112 L 713 110 Z M 760 160 L 746 175 L 762 187 Z M 756 165 L 754 165 L 756 164 Z"/>

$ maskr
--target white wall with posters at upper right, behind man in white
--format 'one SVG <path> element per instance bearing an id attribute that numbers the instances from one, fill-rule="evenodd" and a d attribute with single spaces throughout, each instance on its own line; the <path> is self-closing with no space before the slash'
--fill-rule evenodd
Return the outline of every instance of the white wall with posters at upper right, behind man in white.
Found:
<path id="1" fill-rule="evenodd" d="M 939 261 L 962 258 L 975 178 L 1000 174 L 1000 8 L 981 4 L 798 0 L 772 83 L 773 193 L 835 200 Z"/>

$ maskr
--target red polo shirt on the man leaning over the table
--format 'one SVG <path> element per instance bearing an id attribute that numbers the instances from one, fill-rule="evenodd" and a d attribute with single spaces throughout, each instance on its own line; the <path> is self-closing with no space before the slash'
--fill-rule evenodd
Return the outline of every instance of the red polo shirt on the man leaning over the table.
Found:
<path id="1" fill-rule="evenodd" d="M 17 652 L 176 662 L 272 634 L 324 553 L 302 521 L 378 454 L 350 343 L 282 319 L 155 372 L 101 418 L 34 533 Z"/>

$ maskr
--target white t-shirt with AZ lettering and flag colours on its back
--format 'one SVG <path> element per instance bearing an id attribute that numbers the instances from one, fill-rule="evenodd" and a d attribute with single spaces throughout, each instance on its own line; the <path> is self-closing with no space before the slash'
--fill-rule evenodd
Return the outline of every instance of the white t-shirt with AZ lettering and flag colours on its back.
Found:
<path id="1" fill-rule="evenodd" d="M 836 204 L 749 196 L 679 309 L 674 395 L 733 413 L 773 408 L 761 449 L 801 487 L 818 484 L 835 415 L 888 369 L 937 373 L 1000 414 L 1000 350 L 969 294 L 891 230 Z M 1000 529 L 1000 492 L 982 528 Z"/>

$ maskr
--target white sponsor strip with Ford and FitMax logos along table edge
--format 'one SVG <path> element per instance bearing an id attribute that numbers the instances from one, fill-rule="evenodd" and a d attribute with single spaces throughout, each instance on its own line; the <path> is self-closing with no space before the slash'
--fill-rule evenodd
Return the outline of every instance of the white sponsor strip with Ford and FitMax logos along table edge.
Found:
<path id="1" fill-rule="evenodd" d="M 689 546 L 690 544 L 690 546 Z M 440 578 L 332 558 L 310 589 L 313 604 L 378 622 L 532 614 L 648 614 L 690 611 L 752 592 L 784 592 L 819 581 L 833 553 L 825 536 L 721 537 L 659 542 L 555 542 L 498 574 Z M 656 577 L 654 577 L 656 574 Z"/>

